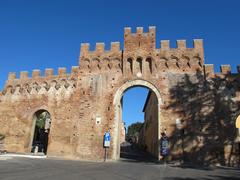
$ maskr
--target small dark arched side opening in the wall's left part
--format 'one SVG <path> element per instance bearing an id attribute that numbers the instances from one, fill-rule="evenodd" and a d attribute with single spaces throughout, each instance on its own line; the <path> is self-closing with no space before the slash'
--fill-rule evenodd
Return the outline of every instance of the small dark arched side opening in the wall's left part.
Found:
<path id="1" fill-rule="evenodd" d="M 38 110 L 33 115 L 33 138 L 31 152 L 47 154 L 51 115 L 46 110 Z"/>

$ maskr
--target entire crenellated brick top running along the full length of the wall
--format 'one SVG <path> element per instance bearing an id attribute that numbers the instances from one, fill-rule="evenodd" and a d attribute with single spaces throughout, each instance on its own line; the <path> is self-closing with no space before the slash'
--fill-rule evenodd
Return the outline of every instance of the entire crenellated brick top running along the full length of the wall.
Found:
<path id="1" fill-rule="evenodd" d="M 148 31 L 137 27 L 135 32 L 130 27 L 124 28 L 124 48 L 120 49 L 120 42 L 111 42 L 109 50 L 102 42 L 96 43 L 94 50 L 90 50 L 89 43 L 82 43 L 80 48 L 80 66 L 72 67 L 67 74 L 66 68 L 59 68 L 55 75 L 51 68 L 41 71 L 35 69 L 30 73 L 9 73 L 8 84 L 37 79 L 65 78 L 79 73 L 122 73 L 126 76 L 150 76 L 161 72 L 191 73 L 201 71 L 208 76 L 215 75 L 213 65 L 204 65 L 204 48 L 202 39 L 194 39 L 193 47 L 188 47 L 186 40 L 177 40 L 176 48 L 171 48 L 169 40 L 161 40 L 160 48 L 156 48 L 156 27 L 150 26 Z M 238 72 L 240 67 L 238 66 Z M 231 74 L 229 65 L 222 65 L 220 73 Z"/>

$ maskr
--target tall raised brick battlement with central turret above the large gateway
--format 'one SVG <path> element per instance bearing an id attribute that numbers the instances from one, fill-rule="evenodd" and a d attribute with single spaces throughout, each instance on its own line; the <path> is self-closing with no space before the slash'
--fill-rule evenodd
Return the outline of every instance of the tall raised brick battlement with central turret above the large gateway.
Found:
<path id="1" fill-rule="evenodd" d="M 134 70 L 134 68 L 138 66 L 138 63 L 142 71 L 145 69 L 143 66 L 151 65 L 152 68 L 149 70 L 151 73 L 169 70 L 179 72 L 202 70 L 203 40 L 194 39 L 193 48 L 187 47 L 186 40 L 177 40 L 176 44 L 176 48 L 171 48 L 169 40 L 161 40 L 160 48 L 157 49 L 154 26 L 150 26 L 147 32 L 144 32 L 143 27 L 137 27 L 135 32 L 130 27 L 126 27 L 122 51 L 119 42 L 112 42 L 110 50 L 105 49 L 104 43 L 96 43 L 93 51 L 90 51 L 90 44 L 81 44 L 80 70 L 81 73 L 114 71 L 136 75 L 136 73 L 139 74 L 139 70 Z M 150 59 L 151 62 L 149 62 Z M 147 62 L 143 63 L 145 61 Z"/>

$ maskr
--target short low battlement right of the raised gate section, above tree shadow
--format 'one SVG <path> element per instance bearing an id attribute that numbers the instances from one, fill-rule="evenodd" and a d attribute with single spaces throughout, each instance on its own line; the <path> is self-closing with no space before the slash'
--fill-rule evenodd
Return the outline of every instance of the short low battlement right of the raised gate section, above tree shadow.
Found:
<path id="1" fill-rule="evenodd" d="M 231 66 L 229 64 L 221 65 L 220 72 L 215 73 L 214 65 L 213 64 L 204 64 L 204 74 L 206 77 L 213 77 L 213 76 L 226 76 L 231 74 L 240 74 L 240 65 L 237 66 L 237 73 L 232 73 Z"/>

